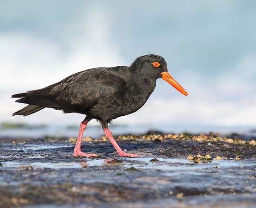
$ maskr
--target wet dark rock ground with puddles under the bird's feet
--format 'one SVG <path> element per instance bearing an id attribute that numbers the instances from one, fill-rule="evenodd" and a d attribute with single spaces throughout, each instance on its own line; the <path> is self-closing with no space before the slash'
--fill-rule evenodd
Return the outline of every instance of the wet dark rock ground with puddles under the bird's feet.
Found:
<path id="1" fill-rule="evenodd" d="M 119 136 L 113 146 L 85 138 L 5 139 L 0 143 L 0 207 L 25 208 L 249 208 L 256 204 L 254 140 L 218 135 Z M 207 156 L 208 155 L 208 156 Z M 115 158 L 115 159 L 113 159 Z"/>

